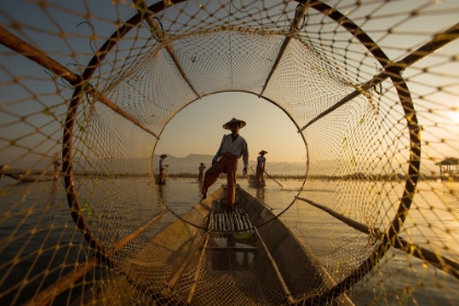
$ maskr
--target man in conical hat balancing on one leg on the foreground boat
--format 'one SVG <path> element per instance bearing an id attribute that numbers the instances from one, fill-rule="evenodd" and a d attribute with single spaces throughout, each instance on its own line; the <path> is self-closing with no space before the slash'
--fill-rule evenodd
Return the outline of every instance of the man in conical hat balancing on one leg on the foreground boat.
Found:
<path id="1" fill-rule="evenodd" d="M 237 161 L 243 157 L 244 170 L 243 175 L 247 174 L 248 167 L 248 149 L 246 140 L 239 136 L 239 129 L 244 128 L 246 122 L 236 118 L 231 119 L 223 125 L 223 128 L 231 130 L 229 134 L 223 136 L 219 151 L 212 160 L 212 166 L 205 172 L 204 181 L 202 185 L 202 199 L 208 196 L 208 189 L 212 186 L 219 176 L 226 174 L 226 205 L 234 207 L 236 199 L 236 175 Z"/>

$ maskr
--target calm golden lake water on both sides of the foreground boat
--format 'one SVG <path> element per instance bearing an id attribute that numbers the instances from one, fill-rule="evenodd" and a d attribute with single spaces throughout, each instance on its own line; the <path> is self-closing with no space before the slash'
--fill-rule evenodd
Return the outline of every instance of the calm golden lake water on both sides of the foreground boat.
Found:
<path id="1" fill-rule="evenodd" d="M 225 181 L 220 179 L 212 192 Z M 263 201 L 299 239 L 310 246 L 323 264 L 351 269 L 370 247 L 366 235 L 295 200 L 303 181 L 268 179 L 261 189 L 242 188 Z M 348 186 L 349 185 L 349 186 Z M 164 204 L 183 215 L 200 200 L 195 179 L 169 179 L 156 189 L 146 178 L 76 181 L 81 205 L 90 214 L 89 224 L 104 243 L 115 243 L 156 215 Z M 457 183 L 421 183 L 412 210 L 400 236 L 457 260 L 459 255 L 459 197 Z M 109 190 L 106 193 L 102 190 Z M 326 204 L 361 223 L 387 224 L 393 216 L 403 186 L 398 183 L 369 184 L 307 181 L 301 197 Z M 161 198 L 160 198 L 160 197 Z M 15 184 L 0 179 L 0 305 L 20 305 L 57 278 L 84 262 L 93 252 L 70 216 L 61 181 Z M 367 205 L 362 203 L 368 202 Z M 141 207 L 134 203 L 148 203 Z M 348 207 L 343 209 L 343 203 Z M 356 205 L 360 203 L 360 205 Z M 104 217 L 105 223 L 99 222 Z M 298 217 L 299 216 L 299 217 Z M 174 217 L 152 226 L 154 235 Z M 108 233 L 108 234 L 107 234 Z M 350 254 L 355 252 L 355 254 Z M 350 260 L 344 260 L 349 258 Z M 340 264 L 337 264 L 339 262 Z M 333 268 L 334 269 L 334 268 Z M 338 268 L 337 268 L 338 269 Z M 339 271 L 337 272 L 339 275 Z M 97 280 L 101 271 L 86 275 Z M 399 250 L 390 250 L 377 269 L 350 292 L 356 305 L 459 305 L 459 282 L 447 273 L 424 264 Z M 81 294 L 74 287 L 55 305 L 69 303 Z M 413 302 L 415 301 L 415 302 Z"/>

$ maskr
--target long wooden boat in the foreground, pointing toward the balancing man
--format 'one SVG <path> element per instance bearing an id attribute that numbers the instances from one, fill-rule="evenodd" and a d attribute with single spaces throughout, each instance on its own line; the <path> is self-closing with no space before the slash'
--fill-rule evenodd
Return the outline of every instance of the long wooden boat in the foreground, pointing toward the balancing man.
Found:
<path id="1" fill-rule="evenodd" d="M 308 247 L 263 203 L 238 187 L 229 210 L 222 204 L 224 196 L 222 186 L 142 248 L 125 249 L 117 256 L 125 278 L 113 273 L 105 289 L 86 292 L 74 305 L 86 298 L 109 304 L 116 297 L 103 293 L 121 287 L 128 293 L 132 286 L 125 286 L 126 280 L 167 305 L 292 305 L 334 285 Z M 345 295 L 336 301 L 353 305 Z"/>

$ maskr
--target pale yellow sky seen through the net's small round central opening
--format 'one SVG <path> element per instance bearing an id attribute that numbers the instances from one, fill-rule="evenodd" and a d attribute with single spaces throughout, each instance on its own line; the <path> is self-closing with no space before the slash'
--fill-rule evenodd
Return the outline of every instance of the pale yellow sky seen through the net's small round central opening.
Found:
<path id="1" fill-rule="evenodd" d="M 247 141 L 250 160 L 268 151 L 269 162 L 306 161 L 303 138 L 278 106 L 246 93 L 220 93 L 191 103 L 164 129 L 155 152 L 185 157 L 190 153 L 214 155 L 232 118 L 246 121 L 239 134 Z"/>

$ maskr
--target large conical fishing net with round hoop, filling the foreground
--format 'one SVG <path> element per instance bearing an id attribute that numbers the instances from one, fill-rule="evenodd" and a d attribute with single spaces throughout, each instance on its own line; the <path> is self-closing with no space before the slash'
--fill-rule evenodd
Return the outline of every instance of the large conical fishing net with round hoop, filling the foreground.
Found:
<path id="1" fill-rule="evenodd" d="M 0 304 L 457 305 L 459 2 L 303 2 L 0 3 Z M 151 179 L 169 120 L 233 91 L 307 161 L 228 236 Z"/>

